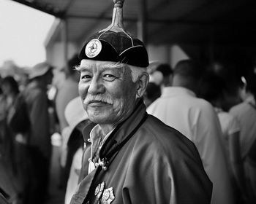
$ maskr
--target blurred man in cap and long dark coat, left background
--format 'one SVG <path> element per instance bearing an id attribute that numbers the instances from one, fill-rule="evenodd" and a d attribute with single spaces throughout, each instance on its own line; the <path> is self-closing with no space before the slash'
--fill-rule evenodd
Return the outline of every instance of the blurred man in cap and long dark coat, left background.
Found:
<path id="1" fill-rule="evenodd" d="M 43 203 L 47 195 L 51 154 L 47 90 L 52 78 L 52 67 L 48 63 L 39 63 L 31 68 L 30 82 L 23 91 L 31 122 L 27 140 L 31 165 L 26 204 Z"/>

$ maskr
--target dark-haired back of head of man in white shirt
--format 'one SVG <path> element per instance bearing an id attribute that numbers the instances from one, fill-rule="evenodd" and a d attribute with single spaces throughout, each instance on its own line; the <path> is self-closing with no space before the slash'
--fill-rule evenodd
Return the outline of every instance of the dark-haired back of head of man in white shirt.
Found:
<path id="1" fill-rule="evenodd" d="M 194 92 L 203 74 L 203 66 L 195 60 L 181 60 L 173 70 L 173 86 L 186 87 Z"/>

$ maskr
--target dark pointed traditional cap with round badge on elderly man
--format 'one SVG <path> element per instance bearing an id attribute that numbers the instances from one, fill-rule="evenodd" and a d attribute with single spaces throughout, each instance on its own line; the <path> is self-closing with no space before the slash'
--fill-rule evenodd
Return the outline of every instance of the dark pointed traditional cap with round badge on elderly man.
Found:
<path id="1" fill-rule="evenodd" d="M 139 39 L 127 33 L 123 25 L 124 0 L 113 0 L 113 18 L 108 28 L 92 35 L 83 45 L 79 58 L 127 63 L 147 67 L 148 52 Z"/>

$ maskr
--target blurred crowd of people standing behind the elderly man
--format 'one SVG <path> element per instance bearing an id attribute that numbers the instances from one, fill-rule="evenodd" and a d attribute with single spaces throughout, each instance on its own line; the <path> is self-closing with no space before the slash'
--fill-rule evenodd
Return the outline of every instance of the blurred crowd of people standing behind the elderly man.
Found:
<path id="1" fill-rule="evenodd" d="M 79 63 L 74 55 L 63 68 L 44 62 L 26 77 L 1 77 L 0 160 L 6 176 L 0 177 L 0 193 L 10 203 L 47 203 L 56 136 L 60 139 L 56 188 L 65 192 L 65 204 L 75 192 L 83 149 L 89 145 L 84 127 L 94 125 L 78 96 L 80 74 L 75 67 Z M 152 62 L 148 74 L 143 97 L 148 114 L 195 143 L 213 182 L 212 203 L 255 203 L 255 68 L 241 76 L 231 64 L 189 59 L 174 67 Z M 20 95 L 30 118 L 29 130 L 23 132 L 10 125 Z M 17 179 L 12 181 L 8 175 Z M 18 183 L 18 187 L 13 184 L 17 190 L 9 187 L 13 182 Z"/>

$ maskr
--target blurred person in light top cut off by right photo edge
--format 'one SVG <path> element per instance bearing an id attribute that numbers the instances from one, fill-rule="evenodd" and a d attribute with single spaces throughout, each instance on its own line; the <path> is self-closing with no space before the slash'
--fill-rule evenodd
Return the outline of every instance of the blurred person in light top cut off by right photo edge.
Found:
<path id="1" fill-rule="evenodd" d="M 246 184 L 248 188 L 249 203 L 255 203 L 256 200 L 256 168 L 255 163 L 248 158 L 256 142 L 256 75 L 249 73 L 241 78 L 244 87 L 241 89 L 242 103 L 233 106 L 230 114 L 238 119 L 240 123 L 240 148 L 241 158 L 244 161 Z M 250 154 L 251 155 L 251 154 Z"/>

